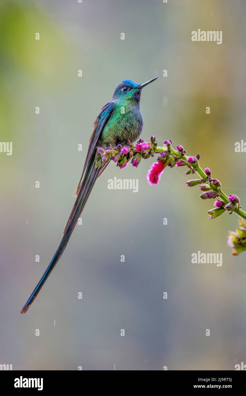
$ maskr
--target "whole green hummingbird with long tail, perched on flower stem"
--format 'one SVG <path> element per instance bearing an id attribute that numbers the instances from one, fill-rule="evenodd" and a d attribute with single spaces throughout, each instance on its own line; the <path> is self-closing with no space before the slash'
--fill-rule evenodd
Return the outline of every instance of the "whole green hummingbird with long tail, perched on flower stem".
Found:
<path id="1" fill-rule="evenodd" d="M 108 162 L 103 164 L 97 148 L 116 147 L 119 144 L 128 145 L 128 141 L 132 143 L 139 138 L 143 129 L 143 117 L 140 110 L 141 92 L 156 78 L 152 78 L 144 84 L 137 84 L 132 80 L 120 82 L 115 88 L 111 101 L 103 106 L 94 121 L 94 130 L 90 137 L 83 172 L 77 190 L 73 193 L 77 198 L 62 240 L 45 273 L 22 308 L 21 314 L 24 314 L 34 302 L 41 287 L 62 256 L 97 178 L 108 165 Z"/>

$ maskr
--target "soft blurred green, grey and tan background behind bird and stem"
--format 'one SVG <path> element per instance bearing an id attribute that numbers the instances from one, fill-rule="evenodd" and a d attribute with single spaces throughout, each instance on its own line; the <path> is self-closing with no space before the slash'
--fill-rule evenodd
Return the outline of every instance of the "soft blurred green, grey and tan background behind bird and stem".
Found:
<path id="1" fill-rule="evenodd" d="M 60 242 L 94 119 L 125 78 L 159 76 L 142 93 L 143 138 L 199 152 L 245 208 L 246 153 L 235 152 L 246 139 L 245 17 L 240 0 L 1 0 L 0 141 L 13 142 L 12 156 L 0 154 L 1 364 L 233 370 L 246 362 L 246 253 L 233 258 L 226 246 L 237 216 L 209 221 L 212 202 L 186 188 L 184 168 L 150 187 L 151 159 L 107 167 L 83 225 L 20 314 Z M 192 42 L 197 29 L 222 30 L 222 44 Z M 139 192 L 109 190 L 115 176 L 139 179 Z M 222 267 L 192 264 L 198 250 L 222 253 Z"/>

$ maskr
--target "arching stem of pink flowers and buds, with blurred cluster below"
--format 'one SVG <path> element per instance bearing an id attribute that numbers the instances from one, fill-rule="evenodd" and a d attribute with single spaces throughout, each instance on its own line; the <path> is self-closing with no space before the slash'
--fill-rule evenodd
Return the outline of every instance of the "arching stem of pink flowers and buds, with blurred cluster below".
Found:
<path id="1" fill-rule="evenodd" d="M 193 175 L 196 172 L 200 178 L 186 181 L 186 186 L 194 187 L 199 185 L 199 189 L 202 191 L 200 194 L 201 199 L 216 199 L 214 208 L 207 211 L 210 220 L 216 219 L 226 211 L 229 215 L 233 212 L 238 215 L 239 226 L 235 232 L 229 231 L 227 245 L 232 247 L 233 256 L 246 251 L 246 222 L 244 221 L 246 220 L 246 212 L 241 209 L 240 199 L 236 194 L 229 194 L 227 196 L 222 191 L 220 181 L 212 178 L 212 172 L 209 168 L 201 169 L 199 166 L 199 153 L 195 157 L 187 156 L 186 150 L 181 145 L 177 145 L 177 150 L 174 150 L 171 139 L 164 141 L 164 147 L 158 147 L 155 136 L 151 136 L 150 142 L 139 139 L 133 145 L 128 140 L 124 147 L 122 145 L 118 145 L 115 148 L 98 147 L 97 150 L 101 154 L 103 164 L 107 164 L 107 162 L 113 160 L 120 169 L 126 168 L 129 162 L 131 162 L 133 167 L 137 168 L 142 159 L 148 159 L 154 157 L 154 154 L 160 154 L 157 162 L 152 164 L 146 176 L 148 183 L 151 185 L 157 185 L 159 183 L 161 174 L 167 166 L 169 168 L 185 166 L 188 168 L 186 175 Z"/>

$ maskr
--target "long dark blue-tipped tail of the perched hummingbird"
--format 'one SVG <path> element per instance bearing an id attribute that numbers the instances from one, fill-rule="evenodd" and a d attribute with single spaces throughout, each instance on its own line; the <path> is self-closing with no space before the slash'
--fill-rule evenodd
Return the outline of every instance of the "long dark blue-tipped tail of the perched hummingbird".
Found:
<path id="1" fill-rule="evenodd" d="M 91 161 L 90 164 L 88 164 L 88 167 L 85 172 L 85 176 L 83 178 L 81 188 L 79 190 L 79 194 L 77 196 L 76 202 L 73 206 L 73 210 L 71 211 L 71 215 L 68 219 L 68 223 L 66 225 L 66 228 L 64 230 L 64 235 L 62 237 L 62 240 L 60 242 L 60 245 L 58 246 L 58 249 L 56 250 L 56 253 L 54 254 L 53 259 L 51 260 L 49 266 L 46 268 L 45 273 L 43 274 L 42 278 L 39 280 L 37 286 L 35 287 L 34 291 L 26 301 L 26 304 L 21 310 L 21 314 L 26 313 L 30 305 L 34 302 L 36 299 L 39 291 L 41 290 L 41 287 L 47 280 L 49 274 L 51 271 L 54 269 L 56 263 L 60 259 L 62 253 L 64 252 L 69 238 L 75 228 L 75 225 L 77 224 L 77 220 L 79 216 L 81 215 L 81 212 L 83 211 L 86 201 L 90 195 L 90 192 L 92 191 L 92 188 L 96 182 L 96 179 L 98 176 L 101 174 L 102 168 L 94 168 L 94 162 Z"/>

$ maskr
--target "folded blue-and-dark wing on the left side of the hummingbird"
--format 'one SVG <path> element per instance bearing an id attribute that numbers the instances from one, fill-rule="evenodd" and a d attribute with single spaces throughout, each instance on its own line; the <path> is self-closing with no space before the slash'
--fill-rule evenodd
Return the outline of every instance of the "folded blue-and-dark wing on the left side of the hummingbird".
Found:
<path id="1" fill-rule="evenodd" d="M 109 118 L 113 112 L 113 109 L 114 109 L 114 102 L 107 103 L 106 105 L 103 106 L 100 114 L 97 116 L 96 120 L 94 121 L 94 124 L 93 124 L 94 130 L 90 137 L 88 152 L 86 155 L 85 165 L 84 165 L 83 172 L 82 172 L 82 175 L 81 175 L 81 178 L 79 181 L 79 185 L 81 184 L 81 180 L 85 173 L 86 166 L 88 165 L 88 162 L 90 161 L 90 158 L 92 156 L 94 148 L 96 147 L 96 143 L 98 141 L 100 133 L 103 131 L 103 128 L 105 127 L 107 121 L 109 120 Z M 78 188 L 79 188 L 79 185 L 78 185 Z"/>

